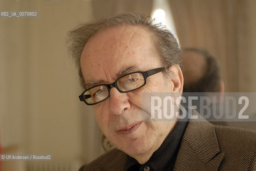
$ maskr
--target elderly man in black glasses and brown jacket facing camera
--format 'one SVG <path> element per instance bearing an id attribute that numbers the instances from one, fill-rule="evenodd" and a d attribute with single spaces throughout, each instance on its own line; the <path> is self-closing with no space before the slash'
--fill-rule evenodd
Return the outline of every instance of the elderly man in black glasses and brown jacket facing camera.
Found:
<path id="1" fill-rule="evenodd" d="M 143 119 L 141 113 L 150 111 L 142 93 L 182 93 L 180 50 L 169 30 L 140 14 L 121 13 L 80 25 L 69 40 L 85 88 L 79 98 L 93 106 L 116 147 L 80 170 L 255 169 L 253 131 L 205 120 Z"/>

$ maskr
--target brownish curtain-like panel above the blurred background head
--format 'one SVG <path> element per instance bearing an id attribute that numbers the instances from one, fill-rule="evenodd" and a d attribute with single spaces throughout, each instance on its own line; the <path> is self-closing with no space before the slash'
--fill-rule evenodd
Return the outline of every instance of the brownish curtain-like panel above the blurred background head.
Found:
<path id="1" fill-rule="evenodd" d="M 248 46 L 255 5 L 248 0 L 169 2 L 180 45 L 209 50 L 220 62 L 226 91 L 255 91 Z"/>

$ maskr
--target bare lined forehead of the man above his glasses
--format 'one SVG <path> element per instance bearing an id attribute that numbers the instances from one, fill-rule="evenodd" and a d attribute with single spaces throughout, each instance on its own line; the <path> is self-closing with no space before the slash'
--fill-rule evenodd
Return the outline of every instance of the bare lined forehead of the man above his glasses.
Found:
<path id="1" fill-rule="evenodd" d="M 85 79 L 99 74 L 116 75 L 123 68 L 144 67 L 146 56 L 155 54 L 152 35 L 140 26 L 119 26 L 101 30 L 89 39 L 81 55 Z"/>

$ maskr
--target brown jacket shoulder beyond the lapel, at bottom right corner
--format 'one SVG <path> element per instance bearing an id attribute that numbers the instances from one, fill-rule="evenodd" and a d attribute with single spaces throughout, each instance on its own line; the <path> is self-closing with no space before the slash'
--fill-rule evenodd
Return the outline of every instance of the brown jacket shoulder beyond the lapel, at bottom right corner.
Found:
<path id="1" fill-rule="evenodd" d="M 223 170 L 232 170 L 231 164 L 252 168 L 256 160 L 256 131 L 214 126 L 220 151 L 224 153 Z"/>

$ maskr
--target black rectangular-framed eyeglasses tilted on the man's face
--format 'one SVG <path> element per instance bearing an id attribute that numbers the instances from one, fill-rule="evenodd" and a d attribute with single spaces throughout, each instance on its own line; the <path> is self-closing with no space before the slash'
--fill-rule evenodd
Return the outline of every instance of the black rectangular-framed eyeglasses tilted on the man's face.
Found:
<path id="1" fill-rule="evenodd" d="M 119 77 L 111 84 L 99 84 L 86 89 L 79 96 L 81 102 L 87 105 L 101 103 L 110 97 L 110 89 L 115 87 L 119 92 L 131 92 L 137 90 L 146 84 L 147 77 L 164 71 L 165 68 L 155 68 L 149 71 L 132 72 Z"/>

